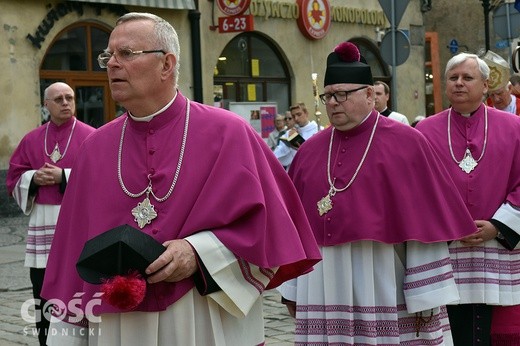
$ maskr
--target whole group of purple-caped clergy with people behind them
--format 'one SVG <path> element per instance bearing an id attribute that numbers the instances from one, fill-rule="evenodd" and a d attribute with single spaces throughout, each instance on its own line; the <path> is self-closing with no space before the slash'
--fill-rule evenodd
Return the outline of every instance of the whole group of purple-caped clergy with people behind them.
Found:
<path id="1" fill-rule="evenodd" d="M 298 345 L 520 345 L 517 75 L 457 54 L 450 107 L 410 126 L 343 42 L 330 126 L 298 102 L 264 141 L 184 96 L 179 58 L 168 22 L 123 15 L 98 62 L 126 113 L 95 130 L 54 83 L 11 157 L 34 298 L 63 303 L 40 345 L 262 345 L 270 289 Z"/>

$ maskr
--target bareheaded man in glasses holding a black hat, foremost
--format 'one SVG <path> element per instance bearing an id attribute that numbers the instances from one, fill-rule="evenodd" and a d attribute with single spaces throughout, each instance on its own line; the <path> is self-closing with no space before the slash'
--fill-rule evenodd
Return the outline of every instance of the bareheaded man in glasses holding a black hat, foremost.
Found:
<path id="1" fill-rule="evenodd" d="M 75 309 L 51 321 L 52 345 L 262 345 L 263 292 L 320 260 L 272 151 L 241 117 L 181 93 L 180 57 L 171 24 L 136 12 L 99 56 L 127 112 L 85 142 L 65 196 L 42 294 Z M 136 251 L 106 255 L 120 227 Z M 131 299 L 113 294 L 125 287 Z"/>

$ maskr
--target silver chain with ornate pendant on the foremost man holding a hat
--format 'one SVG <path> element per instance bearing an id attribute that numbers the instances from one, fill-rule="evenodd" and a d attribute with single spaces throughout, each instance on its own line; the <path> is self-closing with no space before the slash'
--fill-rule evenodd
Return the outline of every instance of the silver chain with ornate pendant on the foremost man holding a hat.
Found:
<path id="1" fill-rule="evenodd" d="M 181 149 L 179 153 L 179 161 L 177 162 L 177 168 L 175 169 L 175 174 L 173 176 L 173 181 L 170 186 L 170 189 L 164 195 L 164 197 L 157 197 L 155 193 L 153 192 L 153 186 L 152 186 L 152 180 L 150 178 L 150 175 L 148 175 L 148 186 L 139 193 L 132 193 L 130 192 L 127 187 L 125 186 L 125 183 L 123 182 L 123 175 L 122 175 L 122 169 L 121 169 L 121 161 L 123 156 L 123 139 L 125 137 L 125 129 L 126 125 L 128 123 L 128 117 L 125 119 L 125 122 L 123 123 L 123 129 L 121 130 L 121 140 L 119 141 L 119 151 L 117 156 L 117 176 L 119 178 L 119 185 L 121 186 L 121 189 L 123 192 L 132 198 L 139 198 L 142 195 L 146 193 L 146 197 L 143 199 L 142 202 L 139 202 L 135 208 L 132 209 L 132 215 L 134 216 L 134 221 L 137 223 L 139 228 L 143 228 L 145 225 L 148 225 L 152 222 L 153 219 L 157 217 L 157 212 L 154 209 L 153 204 L 150 203 L 150 195 L 159 203 L 166 201 L 170 195 L 173 192 L 173 189 L 175 188 L 175 185 L 177 184 L 177 179 L 179 178 L 179 173 L 181 171 L 182 166 L 182 160 L 184 158 L 184 149 L 186 148 L 186 140 L 188 138 L 188 123 L 190 119 L 190 102 L 186 98 L 186 121 L 184 123 L 184 131 L 182 134 L 182 143 L 181 143 Z"/>

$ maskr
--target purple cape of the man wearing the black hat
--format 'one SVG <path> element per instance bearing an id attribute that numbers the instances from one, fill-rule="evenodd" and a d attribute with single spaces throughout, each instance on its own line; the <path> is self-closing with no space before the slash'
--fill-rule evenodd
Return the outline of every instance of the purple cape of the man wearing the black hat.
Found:
<path id="1" fill-rule="evenodd" d="M 353 184 L 332 197 L 320 216 L 316 203 L 329 191 L 327 156 L 332 128 L 298 150 L 289 175 L 318 244 L 371 240 L 388 244 L 459 239 L 477 231 L 456 187 L 428 141 L 415 129 L 373 111 L 349 131 L 334 131 L 331 176 L 351 180 L 379 117 L 372 145 Z"/>

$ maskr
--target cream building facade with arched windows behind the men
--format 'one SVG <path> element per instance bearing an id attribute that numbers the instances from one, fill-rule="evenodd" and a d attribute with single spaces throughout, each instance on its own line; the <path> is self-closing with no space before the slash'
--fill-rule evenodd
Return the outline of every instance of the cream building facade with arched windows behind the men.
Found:
<path id="1" fill-rule="evenodd" d="M 25 133 L 45 119 L 43 90 L 54 81 L 75 89 L 78 118 L 93 126 L 123 112 L 111 99 L 106 72 L 96 58 L 106 48 L 116 19 L 131 11 L 157 14 L 177 30 L 183 94 L 237 112 L 260 133 L 268 127 L 252 114 L 284 113 L 296 102 L 304 102 L 311 115 L 322 112 L 322 125 L 328 123 L 324 106 L 316 103 L 314 82 L 321 93 L 327 55 L 346 40 L 359 45 L 376 79 L 394 83 L 395 110 L 410 121 L 425 114 L 425 30 L 419 0 L 409 2 L 396 26 L 410 44 L 405 47 L 409 56 L 395 71 L 380 51 L 390 23 L 378 0 L 250 0 L 240 14 L 247 21 L 236 23 L 223 12 L 229 8 L 221 7 L 232 9 L 244 1 L 1 2 L 0 171 L 7 169 Z"/>

